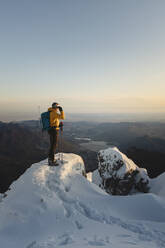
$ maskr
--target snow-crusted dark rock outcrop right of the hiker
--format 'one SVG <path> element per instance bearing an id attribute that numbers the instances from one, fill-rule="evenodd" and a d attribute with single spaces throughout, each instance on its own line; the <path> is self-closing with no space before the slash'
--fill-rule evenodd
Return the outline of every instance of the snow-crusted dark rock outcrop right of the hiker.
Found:
<path id="1" fill-rule="evenodd" d="M 149 191 L 149 177 L 144 168 L 139 168 L 116 147 L 98 153 L 98 170 L 92 181 L 112 195 L 128 195 Z"/>

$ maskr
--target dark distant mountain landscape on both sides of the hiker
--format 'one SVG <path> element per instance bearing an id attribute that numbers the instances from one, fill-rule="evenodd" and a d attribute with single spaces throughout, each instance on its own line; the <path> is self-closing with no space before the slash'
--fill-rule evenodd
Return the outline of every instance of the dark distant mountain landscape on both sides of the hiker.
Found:
<path id="1" fill-rule="evenodd" d="M 79 138 L 117 146 L 155 177 L 165 171 L 165 125 L 162 123 L 65 122 L 63 152 L 79 154 L 86 170 L 97 168 L 97 153 L 79 145 Z M 0 122 L 0 192 L 7 190 L 32 163 L 47 158 L 49 137 L 38 121 Z"/>

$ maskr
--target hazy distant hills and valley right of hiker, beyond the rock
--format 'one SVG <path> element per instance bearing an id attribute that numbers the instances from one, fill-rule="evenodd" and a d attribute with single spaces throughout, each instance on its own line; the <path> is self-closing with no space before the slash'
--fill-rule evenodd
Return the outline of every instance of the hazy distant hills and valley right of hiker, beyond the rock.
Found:
<path id="1" fill-rule="evenodd" d="M 87 137 L 117 146 L 139 167 L 148 170 L 150 177 L 165 172 L 165 124 L 158 122 L 90 123 L 70 125 L 70 139 Z M 70 135 L 70 136 L 69 136 Z"/>

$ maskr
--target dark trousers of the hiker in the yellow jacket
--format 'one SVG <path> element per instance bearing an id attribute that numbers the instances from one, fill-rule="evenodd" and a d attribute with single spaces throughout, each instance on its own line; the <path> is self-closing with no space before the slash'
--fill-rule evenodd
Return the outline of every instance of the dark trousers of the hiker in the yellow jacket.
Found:
<path id="1" fill-rule="evenodd" d="M 50 149 L 49 149 L 48 158 L 53 161 L 54 160 L 54 153 L 55 153 L 56 148 L 57 148 L 59 130 L 56 130 L 55 128 L 51 128 L 48 131 L 48 134 L 50 136 Z"/>

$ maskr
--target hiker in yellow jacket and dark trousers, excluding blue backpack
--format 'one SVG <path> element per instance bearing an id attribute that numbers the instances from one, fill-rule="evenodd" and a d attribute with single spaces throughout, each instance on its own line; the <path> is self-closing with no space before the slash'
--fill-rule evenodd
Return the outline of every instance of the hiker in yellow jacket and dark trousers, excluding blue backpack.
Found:
<path id="1" fill-rule="evenodd" d="M 64 120 L 64 111 L 61 106 L 57 102 L 52 103 L 52 107 L 48 108 L 50 112 L 50 129 L 48 130 L 48 134 L 50 136 L 50 149 L 48 154 L 48 164 L 50 166 L 57 165 L 57 161 L 54 158 L 54 153 L 57 148 L 59 129 L 60 129 L 60 121 Z"/>

